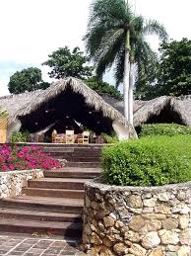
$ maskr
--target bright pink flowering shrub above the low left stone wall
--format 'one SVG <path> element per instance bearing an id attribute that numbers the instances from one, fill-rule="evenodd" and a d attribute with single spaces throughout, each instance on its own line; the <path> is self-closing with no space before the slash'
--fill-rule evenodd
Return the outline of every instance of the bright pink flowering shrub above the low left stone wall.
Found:
<path id="1" fill-rule="evenodd" d="M 0 171 L 60 168 L 62 164 L 37 146 L 0 146 Z"/>

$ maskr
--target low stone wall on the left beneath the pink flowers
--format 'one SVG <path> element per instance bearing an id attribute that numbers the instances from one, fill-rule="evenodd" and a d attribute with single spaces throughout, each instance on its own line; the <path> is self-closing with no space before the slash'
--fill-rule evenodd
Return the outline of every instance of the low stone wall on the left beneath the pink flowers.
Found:
<path id="1" fill-rule="evenodd" d="M 29 180 L 40 177 L 43 177 L 42 170 L 0 172 L 0 199 L 20 195 Z"/>

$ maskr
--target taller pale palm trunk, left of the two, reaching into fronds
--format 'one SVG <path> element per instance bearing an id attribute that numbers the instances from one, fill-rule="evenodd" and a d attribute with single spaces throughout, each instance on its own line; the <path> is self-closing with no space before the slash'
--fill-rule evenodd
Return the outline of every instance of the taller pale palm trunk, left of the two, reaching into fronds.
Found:
<path id="1" fill-rule="evenodd" d="M 124 63 L 124 83 L 123 83 L 123 100 L 124 100 L 124 115 L 126 121 L 129 123 L 129 74 L 130 74 L 130 32 L 127 32 L 126 46 L 125 46 L 125 63 Z"/>

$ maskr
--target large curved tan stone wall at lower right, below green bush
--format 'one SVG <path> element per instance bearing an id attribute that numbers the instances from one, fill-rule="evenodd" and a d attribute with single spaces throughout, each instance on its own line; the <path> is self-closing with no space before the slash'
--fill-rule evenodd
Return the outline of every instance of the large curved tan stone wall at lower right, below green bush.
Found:
<path id="1" fill-rule="evenodd" d="M 191 182 L 85 185 L 83 247 L 91 255 L 189 256 Z"/>

